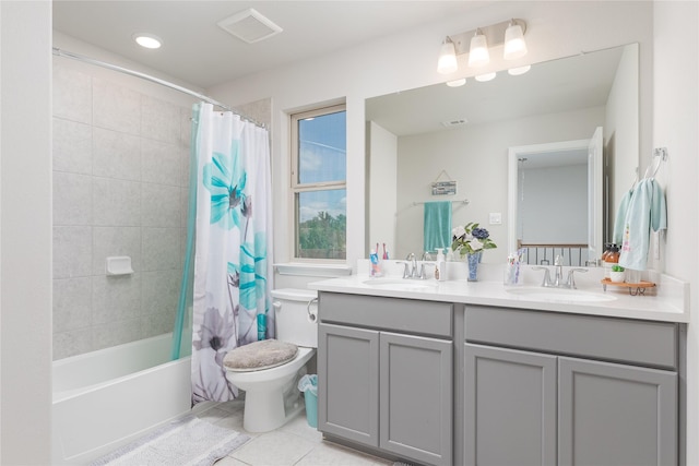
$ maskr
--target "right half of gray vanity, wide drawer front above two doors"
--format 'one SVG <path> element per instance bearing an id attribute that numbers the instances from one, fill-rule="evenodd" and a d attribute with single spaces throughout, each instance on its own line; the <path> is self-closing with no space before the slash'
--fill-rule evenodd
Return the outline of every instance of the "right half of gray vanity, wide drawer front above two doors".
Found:
<path id="1" fill-rule="evenodd" d="M 677 325 L 466 307 L 467 465 L 676 465 Z"/>

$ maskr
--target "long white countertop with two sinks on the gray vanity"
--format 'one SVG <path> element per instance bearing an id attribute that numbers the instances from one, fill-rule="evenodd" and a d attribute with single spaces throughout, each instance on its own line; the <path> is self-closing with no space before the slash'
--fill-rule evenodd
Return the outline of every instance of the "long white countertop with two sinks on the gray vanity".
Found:
<path id="1" fill-rule="evenodd" d="M 481 264 L 483 267 L 485 264 Z M 367 295 L 378 297 L 418 299 L 442 302 L 459 302 L 465 304 L 497 306 L 541 311 L 555 311 L 576 314 L 605 315 L 625 319 L 640 319 L 663 322 L 689 322 L 688 285 L 667 276 L 657 276 L 657 287 L 647 291 L 644 296 L 630 296 L 628 288 L 607 286 L 603 291 L 601 270 L 590 270 L 585 279 L 578 280 L 578 289 L 583 294 L 593 295 L 592 298 L 614 298 L 604 301 L 567 300 L 565 296 L 543 298 L 537 290 L 540 284 L 528 272 L 528 279 L 522 287 L 509 287 L 501 280 L 494 279 L 498 275 L 497 266 L 483 267 L 486 279 L 482 280 L 478 271 L 478 282 L 451 279 L 437 282 L 434 278 L 425 280 L 402 279 L 400 276 L 370 278 L 367 275 L 351 275 L 342 278 L 331 278 L 313 282 L 310 289 L 320 291 L 344 292 L 352 295 Z M 500 268 L 501 271 L 501 268 Z M 599 276 L 597 276 L 599 275 Z M 532 295 L 519 294 L 517 288 L 526 288 Z M 565 292 L 565 291 L 564 291 Z M 573 291 L 574 292 L 574 291 Z"/>

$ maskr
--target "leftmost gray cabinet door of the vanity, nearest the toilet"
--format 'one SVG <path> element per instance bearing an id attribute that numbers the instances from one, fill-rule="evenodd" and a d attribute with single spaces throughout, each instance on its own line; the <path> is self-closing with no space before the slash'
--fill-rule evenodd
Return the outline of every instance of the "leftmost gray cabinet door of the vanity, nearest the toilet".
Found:
<path id="1" fill-rule="evenodd" d="M 318 325 L 318 430 L 379 445 L 379 333 Z"/>

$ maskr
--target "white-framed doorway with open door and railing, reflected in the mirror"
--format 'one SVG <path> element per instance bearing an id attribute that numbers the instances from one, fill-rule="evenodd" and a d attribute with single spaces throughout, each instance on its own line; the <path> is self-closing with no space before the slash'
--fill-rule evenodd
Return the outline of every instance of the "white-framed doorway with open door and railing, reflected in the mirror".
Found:
<path id="1" fill-rule="evenodd" d="M 560 255 L 564 264 L 582 266 L 599 255 L 602 133 L 600 127 L 589 140 L 509 148 L 509 248 L 522 248 L 526 263 L 550 265 Z"/>

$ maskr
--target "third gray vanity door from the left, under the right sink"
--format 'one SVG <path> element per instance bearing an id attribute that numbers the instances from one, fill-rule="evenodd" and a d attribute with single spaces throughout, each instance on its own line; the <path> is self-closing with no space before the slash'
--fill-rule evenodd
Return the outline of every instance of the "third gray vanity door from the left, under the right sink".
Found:
<path id="1" fill-rule="evenodd" d="M 465 345 L 464 462 L 556 464 L 556 357 Z"/>

